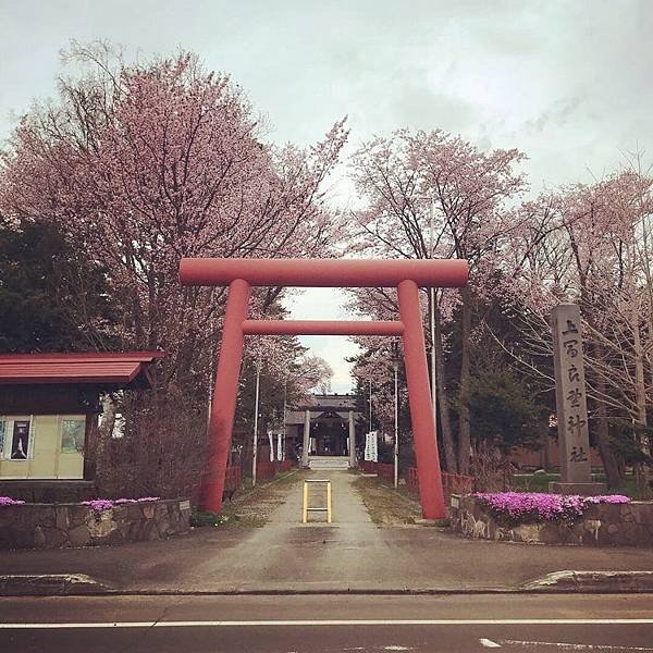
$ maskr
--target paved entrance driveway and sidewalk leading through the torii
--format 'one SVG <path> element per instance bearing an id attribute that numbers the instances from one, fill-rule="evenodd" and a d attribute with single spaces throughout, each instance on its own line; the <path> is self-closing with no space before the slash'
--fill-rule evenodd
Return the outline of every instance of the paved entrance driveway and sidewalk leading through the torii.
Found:
<path id="1" fill-rule="evenodd" d="M 197 529 L 167 542 L 0 552 L 2 574 L 88 574 L 127 591 L 478 590 L 562 569 L 653 569 L 653 551 L 466 540 L 435 528 L 373 525 L 348 472 L 333 479 L 334 522 L 303 525 L 301 484 L 263 528 Z M 280 485 L 281 486 L 281 485 Z"/>

